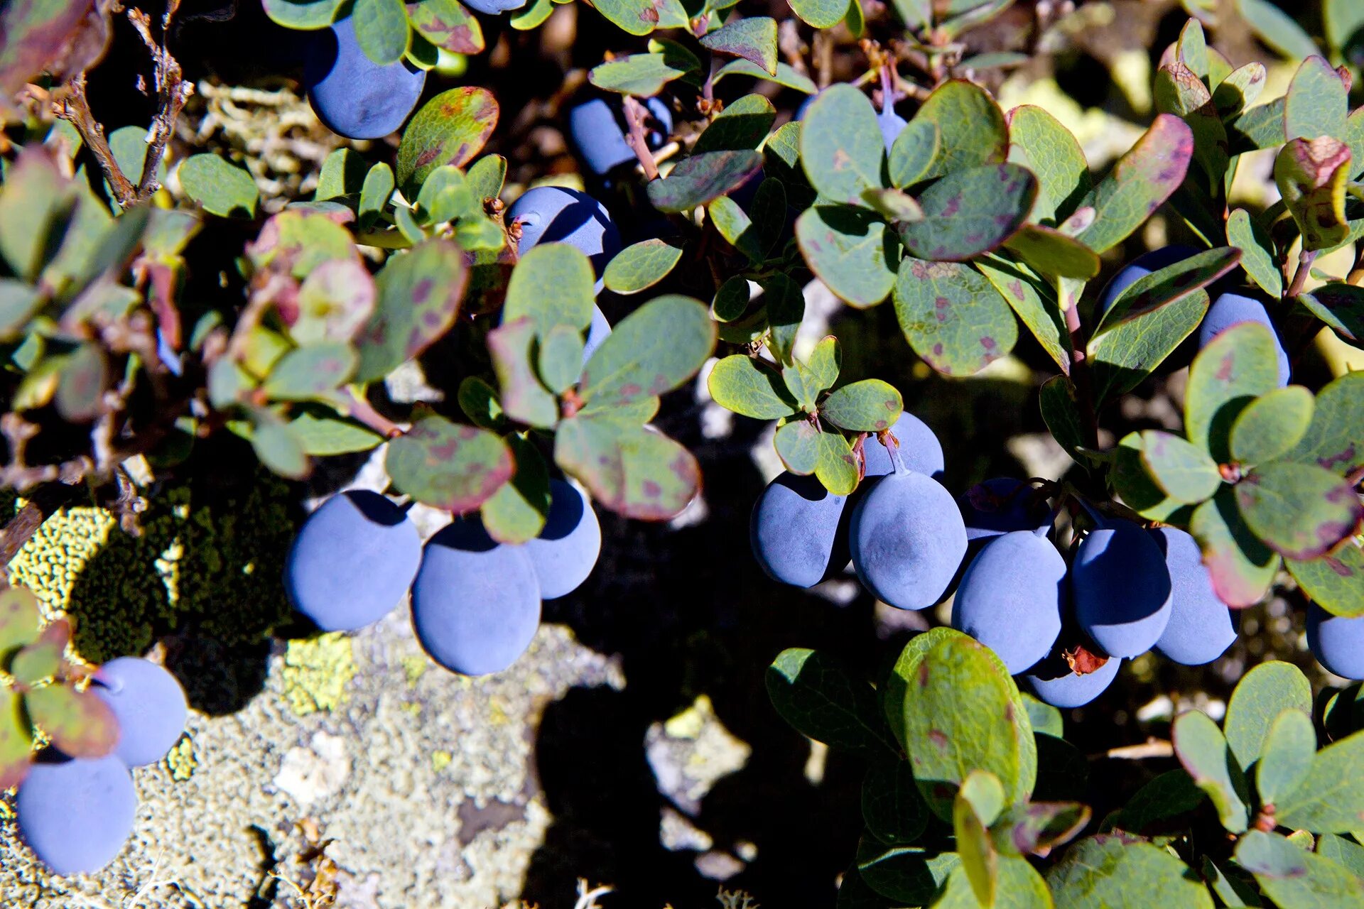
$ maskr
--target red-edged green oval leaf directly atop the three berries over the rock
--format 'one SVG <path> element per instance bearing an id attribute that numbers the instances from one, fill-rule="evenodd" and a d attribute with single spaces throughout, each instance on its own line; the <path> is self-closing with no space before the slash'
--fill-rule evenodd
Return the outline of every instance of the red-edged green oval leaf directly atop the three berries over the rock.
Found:
<path id="1" fill-rule="evenodd" d="M 393 485 L 432 508 L 466 514 L 512 478 L 512 450 L 494 432 L 445 417 L 417 420 L 389 443 L 385 467 Z"/>

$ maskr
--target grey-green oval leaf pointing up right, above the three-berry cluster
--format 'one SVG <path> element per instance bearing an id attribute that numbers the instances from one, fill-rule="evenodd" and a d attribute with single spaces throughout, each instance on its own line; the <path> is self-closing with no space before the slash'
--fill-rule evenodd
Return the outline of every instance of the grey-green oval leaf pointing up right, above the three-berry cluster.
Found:
<path id="1" fill-rule="evenodd" d="M 580 397 L 602 407 L 671 391 L 711 356 L 715 334 L 709 308 L 700 300 L 655 297 L 617 323 L 592 354 Z"/>

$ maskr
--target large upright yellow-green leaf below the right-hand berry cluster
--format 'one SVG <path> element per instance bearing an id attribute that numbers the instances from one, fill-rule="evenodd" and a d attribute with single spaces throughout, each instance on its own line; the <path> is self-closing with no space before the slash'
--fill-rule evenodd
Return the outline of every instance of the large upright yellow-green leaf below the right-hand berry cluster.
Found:
<path id="1" fill-rule="evenodd" d="M 910 688 L 906 747 L 934 814 L 952 816 L 958 786 L 973 770 L 988 770 L 1016 792 L 1024 762 L 1013 725 L 1018 690 L 983 645 L 962 634 L 940 639 L 923 653 Z M 971 710 L 960 709 L 962 691 L 971 692 Z"/>

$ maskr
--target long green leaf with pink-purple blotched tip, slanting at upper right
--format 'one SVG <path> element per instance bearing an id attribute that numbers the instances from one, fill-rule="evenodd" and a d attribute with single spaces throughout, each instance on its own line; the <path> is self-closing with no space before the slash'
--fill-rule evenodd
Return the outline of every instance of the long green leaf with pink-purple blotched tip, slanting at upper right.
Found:
<path id="1" fill-rule="evenodd" d="M 1078 238 L 1094 252 L 1116 247 L 1178 189 L 1192 157 L 1188 124 L 1174 114 L 1157 114 L 1151 128 L 1084 198 L 1097 214 Z"/>

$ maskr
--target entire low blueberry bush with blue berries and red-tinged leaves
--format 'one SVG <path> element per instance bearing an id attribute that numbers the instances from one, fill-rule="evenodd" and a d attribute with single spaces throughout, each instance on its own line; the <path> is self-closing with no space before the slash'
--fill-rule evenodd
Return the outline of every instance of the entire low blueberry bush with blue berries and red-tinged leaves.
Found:
<path id="1" fill-rule="evenodd" d="M 603 518 L 700 502 L 656 425 L 690 388 L 771 427 L 782 472 L 730 557 L 773 602 L 855 576 L 943 623 L 887 666 L 769 654 L 775 710 L 865 766 L 840 908 L 1364 905 L 1359 684 L 1254 666 L 1103 812 L 1064 713 L 1148 653 L 1213 664 L 1270 596 L 1364 679 L 1364 372 L 1314 358 L 1364 333 L 1361 7 L 1165 4 L 1176 40 L 1125 76 L 1146 127 L 1094 168 L 1064 105 L 1000 86 L 1123 4 L 580 3 L 608 50 L 557 101 L 567 185 L 488 151 L 525 110 L 466 78 L 566 1 L 263 0 L 292 44 L 261 56 L 331 136 L 311 195 L 180 128 L 180 26 L 235 12 L 0 5 L 0 561 L 74 503 L 140 533 L 205 452 L 291 482 L 372 454 L 382 488 L 297 527 L 278 626 L 405 605 L 432 661 L 502 672 Z M 145 128 L 97 114 L 117 50 L 143 55 Z M 885 318 L 844 331 L 812 288 Z M 1063 466 L 956 488 L 959 444 L 876 376 L 1020 361 Z M 1133 428 L 1153 394 L 1170 418 Z M 416 506 L 447 515 L 426 541 Z M 74 623 L 0 593 L 0 788 L 59 875 L 123 848 L 128 767 L 187 714 L 155 660 L 95 665 Z"/>

